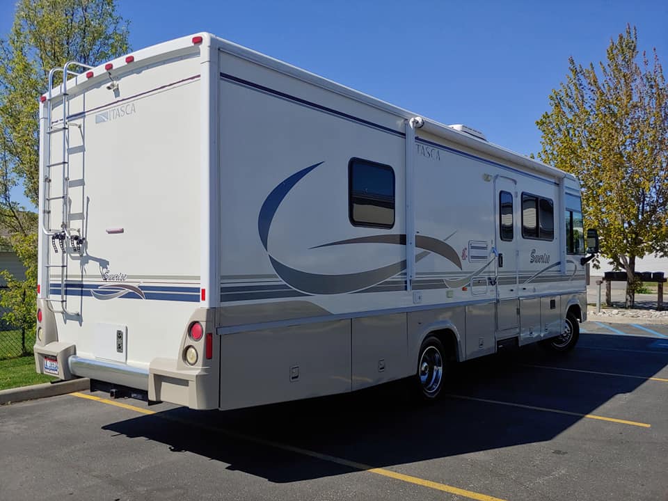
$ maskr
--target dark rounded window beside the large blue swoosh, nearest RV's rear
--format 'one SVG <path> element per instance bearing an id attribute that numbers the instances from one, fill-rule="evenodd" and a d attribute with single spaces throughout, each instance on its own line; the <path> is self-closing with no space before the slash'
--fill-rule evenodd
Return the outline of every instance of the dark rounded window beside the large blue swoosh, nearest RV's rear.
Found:
<path id="1" fill-rule="evenodd" d="M 369 160 L 348 164 L 348 211 L 356 226 L 392 228 L 395 225 L 395 171 Z"/>

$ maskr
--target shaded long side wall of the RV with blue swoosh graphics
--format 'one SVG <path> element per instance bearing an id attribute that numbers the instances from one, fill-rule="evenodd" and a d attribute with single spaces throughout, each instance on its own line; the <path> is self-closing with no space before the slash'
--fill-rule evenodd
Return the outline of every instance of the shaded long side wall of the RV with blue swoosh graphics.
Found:
<path id="1" fill-rule="evenodd" d="M 561 333 L 566 309 L 582 302 L 583 271 L 570 259 L 560 272 L 557 177 L 420 129 L 407 153 L 409 116 L 253 58 L 224 44 L 219 58 L 221 408 L 415 374 L 431 332 L 452 336 L 457 360 L 510 337 Z M 412 291 L 406 154 L 415 155 Z M 384 187 L 369 195 L 372 184 Z M 514 236 L 502 242 L 506 190 Z M 525 193 L 552 203 L 550 238 L 523 234 Z M 262 370 L 249 372 L 250 359 Z"/>

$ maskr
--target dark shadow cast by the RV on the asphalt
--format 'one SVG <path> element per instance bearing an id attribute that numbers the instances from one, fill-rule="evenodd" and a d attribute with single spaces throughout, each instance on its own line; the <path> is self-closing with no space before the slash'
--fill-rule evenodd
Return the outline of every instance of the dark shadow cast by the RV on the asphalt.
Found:
<path id="1" fill-rule="evenodd" d="M 240 411 L 175 408 L 104 429 L 164 443 L 175 454 L 193 452 L 270 482 L 295 482 L 359 469 L 296 449 L 380 468 L 550 440 L 584 417 L 500 402 L 601 415 L 605 410 L 599 407 L 633 392 L 667 365 L 666 340 L 582 334 L 566 356 L 532 346 L 459 366 L 445 392 L 473 399 L 446 396 L 416 404 L 401 381 Z M 614 412 L 608 417 L 633 420 L 617 415 L 619 408 Z"/>

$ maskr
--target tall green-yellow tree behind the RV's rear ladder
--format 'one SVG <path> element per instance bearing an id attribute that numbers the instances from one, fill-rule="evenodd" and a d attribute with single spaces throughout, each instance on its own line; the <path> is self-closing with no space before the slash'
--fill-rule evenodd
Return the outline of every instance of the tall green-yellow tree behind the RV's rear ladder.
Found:
<path id="1" fill-rule="evenodd" d="M 17 326 L 31 328 L 35 319 L 37 217 L 12 193 L 22 187 L 38 205 L 38 97 L 51 68 L 108 61 L 129 51 L 127 37 L 116 0 L 19 0 L 13 26 L 0 40 L 0 225 L 10 229 L 9 243 L 28 269 L 25 280 L 6 277 L 0 305 L 10 308 L 6 319 Z"/>

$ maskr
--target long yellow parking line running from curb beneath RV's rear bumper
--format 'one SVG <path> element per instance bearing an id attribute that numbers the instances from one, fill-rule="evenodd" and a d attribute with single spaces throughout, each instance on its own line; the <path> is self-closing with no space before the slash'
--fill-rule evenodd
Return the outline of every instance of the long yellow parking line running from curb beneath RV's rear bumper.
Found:
<path id="1" fill-rule="evenodd" d="M 188 420 L 182 420 L 178 419 L 175 417 L 168 417 L 162 413 L 156 413 L 155 411 L 149 411 L 148 409 L 141 408 L 141 407 L 136 407 L 133 405 L 129 404 L 123 404 L 122 402 L 115 401 L 115 400 L 109 400 L 109 399 L 104 399 L 100 397 L 95 397 L 94 395 L 87 395 L 86 393 L 79 393 L 79 392 L 74 392 L 70 393 L 72 397 L 79 397 L 83 399 L 88 399 L 88 400 L 94 400 L 97 402 L 100 402 L 102 404 L 108 404 L 120 408 L 125 408 L 128 411 L 135 411 L 138 413 L 142 414 L 153 414 L 156 415 L 156 417 L 160 417 L 161 419 L 168 420 L 168 421 L 173 421 L 173 422 L 179 422 L 181 424 L 188 424 L 189 426 L 192 426 L 193 424 L 196 425 L 197 427 L 200 427 L 202 429 L 207 429 L 209 431 L 214 431 L 219 434 L 223 434 L 226 436 L 230 436 L 232 438 L 237 438 L 239 440 L 246 440 L 249 442 L 257 443 L 259 445 L 265 445 L 268 447 L 274 447 L 276 449 L 284 450 L 287 452 L 294 452 L 295 454 L 301 454 L 302 456 L 309 456 L 315 459 L 320 459 L 321 461 L 328 461 L 330 463 L 336 463 L 342 466 L 348 466 L 349 468 L 354 468 L 355 470 L 360 470 L 360 471 L 365 471 L 369 473 L 375 473 L 376 475 L 381 475 L 383 477 L 389 477 L 395 480 L 400 480 L 401 482 L 406 482 L 408 484 L 415 484 L 431 489 L 435 489 L 436 491 L 443 491 L 447 492 L 450 494 L 454 495 L 459 495 L 463 498 L 468 498 L 472 500 L 477 500 L 477 501 L 504 501 L 500 498 L 495 498 L 494 496 L 491 495 L 486 495 L 486 494 L 481 494 L 477 493 L 474 491 L 467 491 L 466 489 L 459 488 L 459 487 L 454 487 L 450 486 L 447 484 L 441 484 L 440 482 L 431 482 L 431 480 L 425 480 L 421 479 L 420 477 L 413 477 L 412 475 L 404 475 L 403 473 L 398 473 L 392 470 L 385 470 L 385 468 L 374 468 L 373 466 L 366 465 L 364 463 L 358 463 L 356 461 L 349 461 L 348 459 L 343 459 L 337 456 L 330 456 L 329 454 L 321 454 L 320 452 L 315 452 L 311 451 L 308 449 L 302 449 L 301 447 L 294 447 L 292 445 L 287 445 L 283 443 L 278 443 L 278 442 L 272 442 L 271 440 L 264 440 L 262 438 L 257 438 L 254 436 L 250 435 L 245 435 L 245 434 L 237 434 L 234 433 L 233 431 L 228 431 L 225 429 L 220 429 L 216 427 L 209 426 L 207 424 L 199 424 L 197 422 L 191 422 Z"/>

